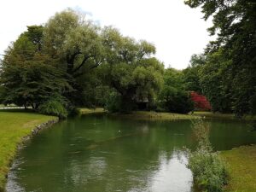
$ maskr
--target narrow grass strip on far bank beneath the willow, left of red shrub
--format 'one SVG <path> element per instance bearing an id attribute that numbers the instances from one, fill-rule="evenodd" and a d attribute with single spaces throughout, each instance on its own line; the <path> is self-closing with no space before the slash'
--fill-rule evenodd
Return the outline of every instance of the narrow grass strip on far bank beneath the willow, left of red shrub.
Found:
<path id="1" fill-rule="evenodd" d="M 111 116 L 117 116 L 125 119 L 139 119 L 139 120 L 177 120 L 177 119 L 197 119 L 197 116 L 179 113 L 159 113 L 148 111 L 135 111 L 132 113 L 112 113 Z"/>

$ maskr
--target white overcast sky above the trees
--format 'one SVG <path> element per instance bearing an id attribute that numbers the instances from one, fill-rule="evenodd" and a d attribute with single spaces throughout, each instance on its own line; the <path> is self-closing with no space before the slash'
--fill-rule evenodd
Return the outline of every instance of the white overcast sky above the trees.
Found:
<path id="1" fill-rule="evenodd" d="M 0 6 L 0 54 L 26 26 L 40 25 L 63 9 L 79 9 L 101 26 L 114 26 L 125 36 L 145 39 L 157 49 L 166 67 L 188 66 L 211 39 L 210 21 L 183 0 L 3 0 Z"/>

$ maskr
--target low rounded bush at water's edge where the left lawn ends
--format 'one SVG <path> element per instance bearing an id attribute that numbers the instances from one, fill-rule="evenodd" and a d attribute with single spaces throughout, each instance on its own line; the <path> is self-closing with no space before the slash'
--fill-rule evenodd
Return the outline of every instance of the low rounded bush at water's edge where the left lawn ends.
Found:
<path id="1" fill-rule="evenodd" d="M 38 107 L 39 113 L 58 116 L 61 119 L 67 118 L 67 109 L 60 98 L 50 98 Z"/>

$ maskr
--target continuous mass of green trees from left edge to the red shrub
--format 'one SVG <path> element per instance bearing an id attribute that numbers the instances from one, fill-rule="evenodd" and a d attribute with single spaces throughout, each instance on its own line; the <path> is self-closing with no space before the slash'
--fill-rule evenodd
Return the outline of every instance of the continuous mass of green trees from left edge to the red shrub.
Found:
<path id="1" fill-rule="evenodd" d="M 183 73 L 164 69 L 155 47 L 67 9 L 26 32 L 1 61 L 0 102 L 66 117 L 78 106 L 188 113 Z"/>

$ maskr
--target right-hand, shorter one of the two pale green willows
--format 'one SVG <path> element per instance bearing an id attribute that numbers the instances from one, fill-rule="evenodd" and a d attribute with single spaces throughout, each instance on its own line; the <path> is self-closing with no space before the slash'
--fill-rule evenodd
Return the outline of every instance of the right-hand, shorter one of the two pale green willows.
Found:
<path id="1" fill-rule="evenodd" d="M 102 66 L 103 81 L 121 97 L 122 111 L 136 108 L 137 103 L 154 102 L 162 84 L 163 65 L 152 55 L 154 45 L 123 37 L 116 29 L 102 31 L 106 63 Z"/>

